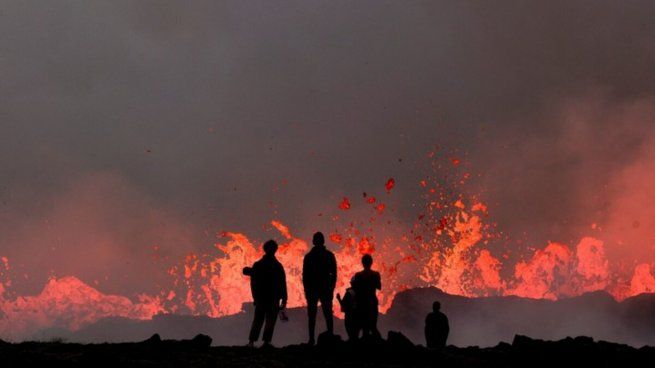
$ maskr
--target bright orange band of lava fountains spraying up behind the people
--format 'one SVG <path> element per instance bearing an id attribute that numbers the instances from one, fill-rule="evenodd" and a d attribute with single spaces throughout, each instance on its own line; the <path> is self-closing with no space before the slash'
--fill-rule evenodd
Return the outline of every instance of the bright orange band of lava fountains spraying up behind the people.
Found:
<path id="1" fill-rule="evenodd" d="M 605 290 L 616 299 L 655 291 L 649 264 L 621 271 L 605 255 L 603 241 L 583 237 L 575 247 L 549 243 L 511 263 L 502 247 L 507 239 L 489 222 L 489 210 L 464 186 L 472 175 L 461 159 L 435 151 L 431 172 L 417 185 L 422 203 L 410 225 L 390 216 L 388 199 L 406 183 L 394 178 L 381 183 L 378 193 L 364 193 L 361 202 L 343 197 L 335 203 L 333 228 L 328 232 L 338 261 L 337 289 L 348 286 L 360 269 L 363 254 L 372 254 L 382 275 L 380 308 L 386 311 L 396 293 L 434 286 L 468 297 L 517 295 L 557 299 Z M 377 194 L 377 196 L 376 196 Z M 365 213 L 350 220 L 345 214 Z M 338 214 L 336 214 L 338 213 Z M 278 258 L 284 264 L 289 306 L 304 304 L 302 259 L 311 244 L 294 236 L 280 219 L 270 226 L 282 238 Z M 400 229 L 400 230 L 398 230 Z M 170 284 L 158 295 L 139 295 L 136 301 L 105 295 L 74 276 L 52 278 L 35 296 L 11 294 L 10 260 L 0 263 L 0 336 L 27 338 L 48 327 L 79 329 L 110 316 L 149 319 L 157 313 L 221 317 L 239 313 L 251 300 L 249 283 L 241 273 L 262 255 L 260 243 L 246 234 L 222 232 L 215 254 L 190 254 L 168 269 Z"/>

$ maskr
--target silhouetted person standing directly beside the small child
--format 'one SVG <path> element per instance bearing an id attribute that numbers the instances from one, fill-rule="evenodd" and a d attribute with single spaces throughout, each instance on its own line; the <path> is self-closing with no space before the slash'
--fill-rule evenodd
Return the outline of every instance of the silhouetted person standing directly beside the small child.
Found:
<path id="1" fill-rule="evenodd" d="M 378 332 L 378 297 L 377 290 L 382 289 L 380 273 L 371 270 L 373 257 L 366 254 L 362 257 L 363 271 L 353 277 L 352 285 L 355 290 L 355 303 L 357 304 L 357 320 L 362 328 L 362 337 L 380 337 Z"/>

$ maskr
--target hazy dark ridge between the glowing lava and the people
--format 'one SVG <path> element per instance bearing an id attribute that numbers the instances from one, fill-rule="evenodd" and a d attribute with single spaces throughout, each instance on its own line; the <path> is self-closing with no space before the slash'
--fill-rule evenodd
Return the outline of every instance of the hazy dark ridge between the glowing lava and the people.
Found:
<path id="1" fill-rule="evenodd" d="M 450 320 L 449 344 L 456 346 L 493 346 L 511 341 L 514 335 L 544 340 L 567 336 L 592 336 L 632 346 L 655 345 L 655 295 L 642 294 L 619 303 L 605 292 L 588 293 L 558 301 L 526 299 L 514 296 L 466 298 L 449 295 L 436 288 L 411 289 L 399 293 L 379 327 L 401 331 L 412 341 L 423 343 L 423 324 L 434 300 Z M 34 340 L 64 338 L 76 342 L 143 341 L 154 333 L 167 339 L 187 339 L 204 334 L 214 345 L 241 345 L 247 340 L 252 306 L 245 312 L 223 318 L 158 315 L 152 320 L 105 318 L 79 331 L 62 329 L 41 331 Z M 304 308 L 288 310 L 289 321 L 278 322 L 273 343 L 298 344 L 307 339 L 307 315 Z M 544 323 L 548 321 L 548 323 Z M 343 321 L 335 321 L 336 333 L 346 336 Z M 317 331 L 323 331 L 318 319 Z"/>

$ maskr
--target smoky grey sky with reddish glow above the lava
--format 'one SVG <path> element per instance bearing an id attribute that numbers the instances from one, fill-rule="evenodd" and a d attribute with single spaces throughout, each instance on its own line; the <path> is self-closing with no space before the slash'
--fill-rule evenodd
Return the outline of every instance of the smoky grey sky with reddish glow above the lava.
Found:
<path id="1" fill-rule="evenodd" d="M 211 252 L 272 218 L 306 237 L 388 177 L 409 207 L 446 145 L 507 233 L 653 260 L 654 19 L 647 0 L 0 1 L 0 255 L 31 291 L 144 291 L 153 244 Z"/>

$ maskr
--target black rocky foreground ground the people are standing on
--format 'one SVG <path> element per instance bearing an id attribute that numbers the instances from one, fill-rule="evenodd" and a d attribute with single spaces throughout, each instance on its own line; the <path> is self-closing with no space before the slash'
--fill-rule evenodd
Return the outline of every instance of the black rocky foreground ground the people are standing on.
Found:
<path id="1" fill-rule="evenodd" d="M 391 332 L 386 341 L 357 344 L 322 340 L 318 346 L 282 348 L 212 347 L 211 338 L 123 344 L 58 341 L 0 343 L 2 367 L 627 367 L 655 362 L 655 348 L 594 341 L 516 336 L 490 348 L 449 346 L 434 351 Z"/>

